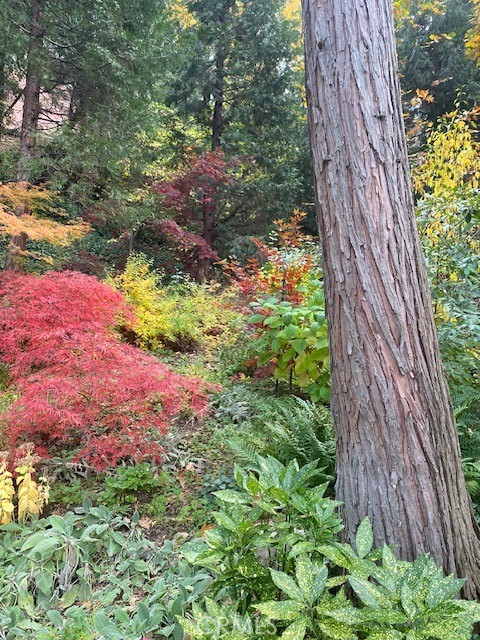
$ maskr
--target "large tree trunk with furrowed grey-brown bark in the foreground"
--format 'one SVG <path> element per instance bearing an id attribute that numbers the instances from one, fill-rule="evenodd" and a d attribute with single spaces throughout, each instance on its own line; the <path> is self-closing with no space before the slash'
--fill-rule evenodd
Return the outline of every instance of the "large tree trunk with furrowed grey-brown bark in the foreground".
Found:
<path id="1" fill-rule="evenodd" d="M 480 596 L 472 514 L 418 238 L 391 0 L 303 0 L 307 100 L 323 244 L 349 542 L 430 553 Z"/>

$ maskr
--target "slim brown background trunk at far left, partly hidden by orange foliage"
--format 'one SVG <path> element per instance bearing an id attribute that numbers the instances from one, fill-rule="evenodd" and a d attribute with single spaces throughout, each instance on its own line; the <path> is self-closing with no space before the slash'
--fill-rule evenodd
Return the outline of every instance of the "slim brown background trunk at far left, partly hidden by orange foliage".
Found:
<path id="1" fill-rule="evenodd" d="M 40 116 L 40 77 L 39 54 L 43 46 L 44 28 L 42 26 L 43 0 L 33 0 L 30 40 L 28 45 L 27 72 L 23 92 L 22 128 L 20 132 L 20 158 L 17 167 L 17 182 L 29 178 L 30 161 L 35 151 L 38 119 Z M 15 210 L 15 215 L 22 216 L 25 211 Z M 21 233 L 11 236 L 7 248 L 5 269 L 23 271 L 27 236 Z"/>

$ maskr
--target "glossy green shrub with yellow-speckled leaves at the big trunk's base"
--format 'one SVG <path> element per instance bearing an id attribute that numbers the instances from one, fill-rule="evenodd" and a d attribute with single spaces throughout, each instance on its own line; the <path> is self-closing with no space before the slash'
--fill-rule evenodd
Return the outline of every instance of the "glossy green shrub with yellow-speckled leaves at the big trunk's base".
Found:
<path id="1" fill-rule="evenodd" d="M 216 526 L 183 547 L 214 577 L 181 623 L 205 640 L 470 640 L 480 604 L 456 599 L 463 580 L 429 556 L 373 548 L 368 519 L 354 547 L 338 542 L 338 502 L 309 487 L 316 464 L 258 458 L 216 492 Z M 354 598 L 351 598 L 354 594 Z"/>

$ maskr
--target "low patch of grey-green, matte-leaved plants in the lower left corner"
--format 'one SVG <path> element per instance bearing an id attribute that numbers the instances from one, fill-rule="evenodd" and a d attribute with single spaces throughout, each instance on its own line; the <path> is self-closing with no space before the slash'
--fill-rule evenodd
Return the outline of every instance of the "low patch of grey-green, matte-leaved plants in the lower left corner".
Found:
<path id="1" fill-rule="evenodd" d="M 56 633 L 67 640 L 76 628 L 85 640 L 89 633 L 102 640 L 179 640 L 177 615 L 211 578 L 192 570 L 171 542 L 158 547 L 147 540 L 138 520 L 86 499 L 63 517 L 3 526 L 0 638 Z"/>

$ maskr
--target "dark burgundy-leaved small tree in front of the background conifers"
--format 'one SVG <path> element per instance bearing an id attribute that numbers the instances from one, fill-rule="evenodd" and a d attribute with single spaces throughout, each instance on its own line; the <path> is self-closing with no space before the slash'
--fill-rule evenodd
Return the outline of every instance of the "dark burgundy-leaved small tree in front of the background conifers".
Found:
<path id="1" fill-rule="evenodd" d="M 232 184 L 230 170 L 236 162 L 227 162 L 222 151 L 210 151 L 192 157 L 187 168 L 170 181 L 158 182 L 153 190 L 173 219 L 157 225 L 180 252 L 188 273 L 199 279 L 205 263 L 218 260 L 214 250 L 216 217 L 223 187 Z"/>

